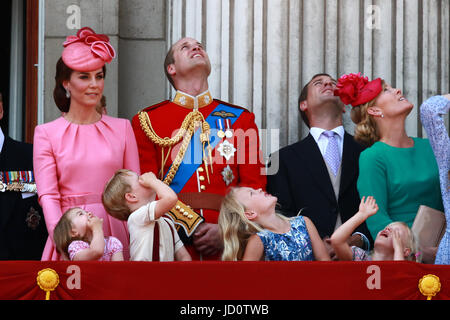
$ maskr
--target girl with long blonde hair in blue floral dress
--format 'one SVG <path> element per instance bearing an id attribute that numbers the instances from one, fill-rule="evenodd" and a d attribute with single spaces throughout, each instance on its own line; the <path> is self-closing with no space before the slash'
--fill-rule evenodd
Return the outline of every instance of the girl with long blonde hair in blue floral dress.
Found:
<path id="1" fill-rule="evenodd" d="M 277 198 L 248 187 L 233 188 L 219 215 L 222 260 L 330 260 L 312 221 L 276 213 Z"/>

